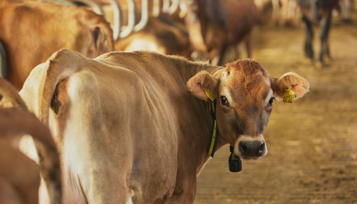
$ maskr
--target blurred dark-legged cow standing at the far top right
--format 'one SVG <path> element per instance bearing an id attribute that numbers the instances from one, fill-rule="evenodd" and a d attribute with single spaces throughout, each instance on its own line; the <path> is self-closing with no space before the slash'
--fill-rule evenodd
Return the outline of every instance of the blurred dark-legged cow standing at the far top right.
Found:
<path id="1" fill-rule="evenodd" d="M 312 41 L 314 37 L 313 25 L 320 25 L 320 54 L 319 61 L 323 64 L 324 57 L 330 58 L 328 45 L 328 33 L 331 25 L 331 13 L 338 4 L 338 0 L 298 0 L 302 13 L 302 21 L 305 24 L 304 52 L 310 59 L 314 60 Z"/>

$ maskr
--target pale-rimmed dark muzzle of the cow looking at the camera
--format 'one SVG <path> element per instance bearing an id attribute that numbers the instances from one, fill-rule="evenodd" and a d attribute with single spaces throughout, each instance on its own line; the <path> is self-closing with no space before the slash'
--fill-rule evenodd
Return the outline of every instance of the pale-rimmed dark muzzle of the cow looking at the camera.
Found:
<path id="1" fill-rule="evenodd" d="M 234 150 L 235 155 L 243 159 L 258 159 L 268 152 L 263 135 L 240 136 Z"/>

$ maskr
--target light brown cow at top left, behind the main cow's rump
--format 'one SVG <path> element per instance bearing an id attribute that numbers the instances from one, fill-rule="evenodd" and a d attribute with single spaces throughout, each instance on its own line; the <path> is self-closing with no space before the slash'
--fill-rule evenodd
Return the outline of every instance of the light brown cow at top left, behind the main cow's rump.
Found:
<path id="1" fill-rule="evenodd" d="M 33 67 L 61 48 L 91 58 L 114 48 L 109 23 L 90 10 L 10 2 L 0 2 L 0 41 L 7 55 L 7 79 L 18 90 Z"/>

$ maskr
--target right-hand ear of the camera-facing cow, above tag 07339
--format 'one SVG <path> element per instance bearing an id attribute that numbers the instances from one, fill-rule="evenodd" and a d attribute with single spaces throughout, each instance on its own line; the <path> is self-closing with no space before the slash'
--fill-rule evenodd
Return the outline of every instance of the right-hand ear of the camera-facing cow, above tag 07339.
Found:
<path id="1" fill-rule="evenodd" d="M 271 78 L 270 82 L 274 97 L 277 100 L 282 100 L 284 92 L 289 88 L 294 91 L 296 99 L 301 98 L 310 91 L 308 80 L 293 72 L 285 73 L 279 79 Z"/>

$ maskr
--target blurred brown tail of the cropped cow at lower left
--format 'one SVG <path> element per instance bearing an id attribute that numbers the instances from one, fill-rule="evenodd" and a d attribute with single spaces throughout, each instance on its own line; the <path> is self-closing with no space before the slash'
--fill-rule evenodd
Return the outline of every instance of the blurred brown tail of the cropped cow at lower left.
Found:
<path id="1" fill-rule="evenodd" d="M 48 189 L 50 203 L 62 203 L 60 160 L 48 127 L 32 113 L 17 109 L 1 109 L 0 121 L 0 136 L 5 136 L 12 141 L 18 141 L 25 134 L 32 136 L 38 151 L 38 165 Z"/>

